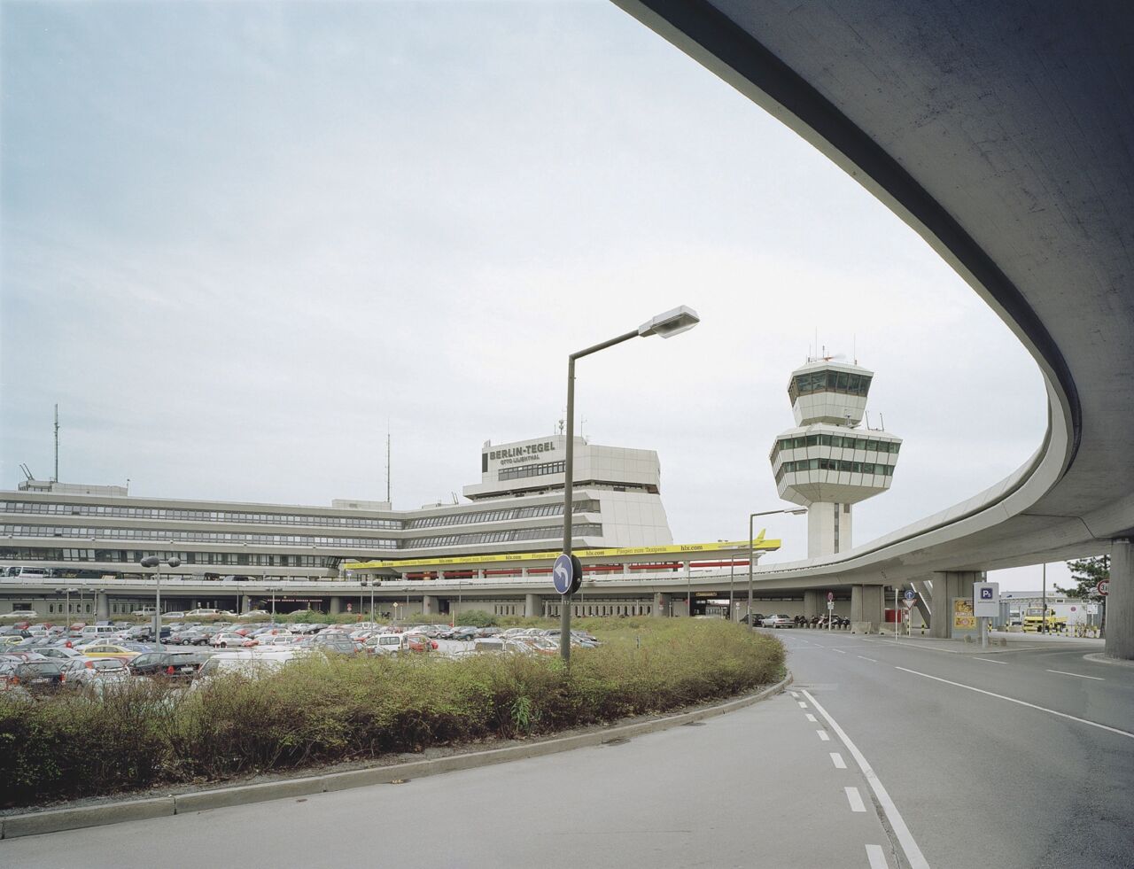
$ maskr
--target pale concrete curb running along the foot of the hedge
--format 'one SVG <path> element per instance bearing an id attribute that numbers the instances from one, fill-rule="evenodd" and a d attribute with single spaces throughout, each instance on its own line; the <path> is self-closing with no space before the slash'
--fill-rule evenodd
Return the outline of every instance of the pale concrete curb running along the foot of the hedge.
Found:
<path id="1" fill-rule="evenodd" d="M 121 824 L 128 820 L 163 818 L 171 815 L 185 815 L 192 811 L 205 811 L 208 809 L 221 809 L 229 805 L 246 805 L 269 800 L 282 800 L 289 796 L 332 793 L 350 787 L 389 784 L 396 779 L 421 778 L 442 773 L 456 773 L 462 769 L 477 769 L 513 760 L 557 754 L 561 751 L 601 745 L 613 740 L 642 736 L 648 733 L 667 731 L 670 727 L 677 727 L 691 722 L 700 722 L 705 718 L 714 718 L 718 715 L 735 712 L 738 709 L 753 706 L 761 700 L 780 693 L 792 684 L 792 680 L 793 676 L 788 673 L 780 682 L 769 685 L 754 694 L 748 694 L 737 700 L 726 700 L 723 703 L 704 709 L 677 712 L 676 715 L 655 718 L 651 722 L 604 727 L 594 733 L 558 736 L 530 744 L 509 745 L 503 749 L 489 749 L 488 751 L 476 751 L 467 754 L 452 754 L 435 760 L 412 760 L 389 767 L 352 769 L 345 773 L 288 778 L 280 782 L 264 782 L 255 785 L 219 787 L 213 791 L 198 791 L 196 793 L 177 794 L 174 796 L 128 800 L 76 809 L 52 809 L 49 811 L 31 812 L 28 815 L 10 815 L 0 819 L 0 840 L 39 836 L 44 833 L 60 833 L 83 827 L 100 827 L 109 824 Z"/>

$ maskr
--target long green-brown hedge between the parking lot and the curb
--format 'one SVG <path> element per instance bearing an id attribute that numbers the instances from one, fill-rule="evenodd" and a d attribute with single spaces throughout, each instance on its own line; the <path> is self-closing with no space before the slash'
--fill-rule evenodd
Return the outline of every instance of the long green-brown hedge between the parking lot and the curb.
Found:
<path id="1" fill-rule="evenodd" d="M 464 621 L 464 618 L 462 619 Z M 718 621 L 593 624 L 557 655 L 303 659 L 177 694 L 158 682 L 0 699 L 3 805 L 553 733 L 723 698 L 780 677 L 770 636 Z M 590 623 L 589 623 L 590 624 Z"/>

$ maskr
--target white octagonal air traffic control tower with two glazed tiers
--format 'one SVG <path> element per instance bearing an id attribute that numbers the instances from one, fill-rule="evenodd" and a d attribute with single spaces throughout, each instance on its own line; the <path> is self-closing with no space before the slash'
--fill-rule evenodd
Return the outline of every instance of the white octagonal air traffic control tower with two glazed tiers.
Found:
<path id="1" fill-rule="evenodd" d="M 874 372 L 809 360 L 792 372 L 787 393 L 794 429 L 769 456 L 779 496 L 807 507 L 807 557 L 850 549 L 852 505 L 890 488 L 902 439 L 861 428 Z"/>

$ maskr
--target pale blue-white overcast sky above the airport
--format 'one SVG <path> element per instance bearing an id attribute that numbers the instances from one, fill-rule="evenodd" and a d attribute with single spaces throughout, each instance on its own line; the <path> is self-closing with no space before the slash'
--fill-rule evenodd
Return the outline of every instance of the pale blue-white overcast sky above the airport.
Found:
<path id="1" fill-rule="evenodd" d="M 1009 474 L 1041 377 L 904 223 L 608 2 L 0 5 L 0 486 L 451 500 L 551 433 L 658 450 L 675 539 L 779 501 L 792 369 L 904 438 L 855 541 Z M 805 556 L 772 517 L 775 558 Z M 768 560 L 772 560 L 769 558 Z M 1001 579 L 1038 588 L 1039 567 Z M 1049 570 L 1063 581 L 1066 571 Z"/>

